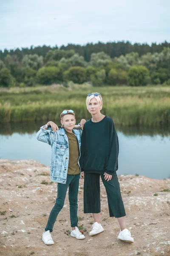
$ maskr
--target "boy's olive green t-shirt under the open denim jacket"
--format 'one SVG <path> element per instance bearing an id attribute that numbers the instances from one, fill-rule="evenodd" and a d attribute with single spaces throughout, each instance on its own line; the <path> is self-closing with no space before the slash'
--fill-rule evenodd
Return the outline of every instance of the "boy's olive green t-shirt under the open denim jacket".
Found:
<path id="1" fill-rule="evenodd" d="M 80 173 L 78 158 L 79 158 L 79 147 L 78 141 L 74 133 L 65 131 L 68 137 L 69 144 L 69 163 L 68 163 L 68 172 L 69 175 L 76 175 Z"/>

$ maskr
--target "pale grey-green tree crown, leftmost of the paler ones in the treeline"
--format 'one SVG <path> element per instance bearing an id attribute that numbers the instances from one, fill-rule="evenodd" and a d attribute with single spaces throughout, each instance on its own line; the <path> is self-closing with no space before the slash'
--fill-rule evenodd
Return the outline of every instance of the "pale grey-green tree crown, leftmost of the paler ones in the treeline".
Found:
<path id="1" fill-rule="evenodd" d="M 43 57 L 37 54 L 25 55 L 22 60 L 23 67 L 30 67 L 34 70 L 38 70 L 43 66 Z"/>

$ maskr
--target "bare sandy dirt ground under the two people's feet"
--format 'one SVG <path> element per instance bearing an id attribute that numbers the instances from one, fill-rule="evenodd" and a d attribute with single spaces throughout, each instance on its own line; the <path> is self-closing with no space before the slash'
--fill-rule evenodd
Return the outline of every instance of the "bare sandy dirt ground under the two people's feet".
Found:
<path id="1" fill-rule="evenodd" d="M 42 232 L 54 206 L 57 184 L 50 169 L 34 160 L 0 159 L 1 256 L 170 256 L 170 179 L 119 175 L 133 244 L 117 240 L 120 228 L 110 218 L 101 183 L 101 224 L 105 231 L 91 238 L 91 214 L 83 213 L 83 180 L 79 183 L 79 226 L 85 239 L 70 236 L 68 196 L 54 225 L 54 245 L 42 242 Z M 44 183 L 44 184 L 43 184 Z"/>

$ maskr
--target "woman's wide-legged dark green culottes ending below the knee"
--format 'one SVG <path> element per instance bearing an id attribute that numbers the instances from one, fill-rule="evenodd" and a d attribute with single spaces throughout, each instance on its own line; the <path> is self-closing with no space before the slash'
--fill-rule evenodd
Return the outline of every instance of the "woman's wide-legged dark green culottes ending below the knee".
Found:
<path id="1" fill-rule="evenodd" d="M 116 174 L 107 181 L 103 174 L 85 173 L 84 180 L 84 213 L 99 213 L 100 210 L 100 176 L 108 196 L 110 217 L 120 218 L 126 215 Z"/>

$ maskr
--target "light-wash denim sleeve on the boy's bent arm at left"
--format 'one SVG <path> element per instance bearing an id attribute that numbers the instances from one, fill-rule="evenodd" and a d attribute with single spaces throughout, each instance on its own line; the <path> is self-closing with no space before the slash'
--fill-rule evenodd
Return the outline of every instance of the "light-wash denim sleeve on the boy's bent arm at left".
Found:
<path id="1" fill-rule="evenodd" d="M 49 145 L 52 146 L 54 139 L 56 137 L 56 134 L 54 133 L 53 130 L 51 130 L 51 128 L 48 128 L 48 130 L 43 130 L 43 127 L 40 127 L 40 131 L 37 132 L 37 140 L 40 140 L 44 143 L 48 143 Z"/>

